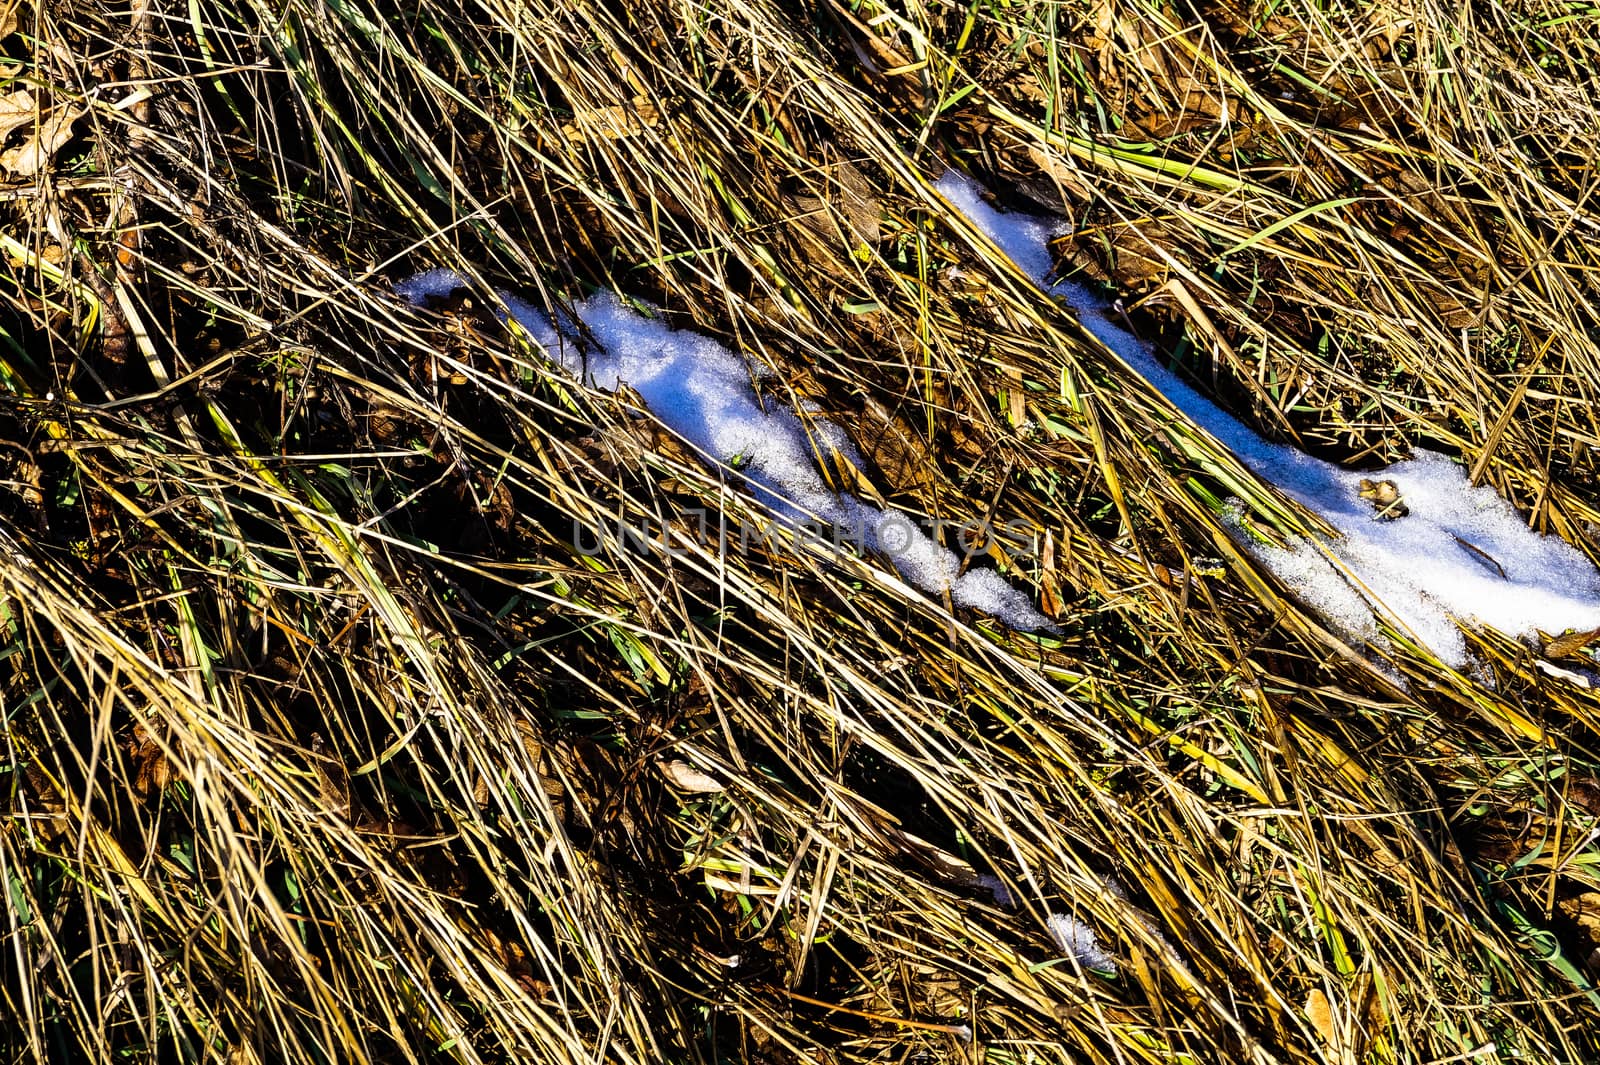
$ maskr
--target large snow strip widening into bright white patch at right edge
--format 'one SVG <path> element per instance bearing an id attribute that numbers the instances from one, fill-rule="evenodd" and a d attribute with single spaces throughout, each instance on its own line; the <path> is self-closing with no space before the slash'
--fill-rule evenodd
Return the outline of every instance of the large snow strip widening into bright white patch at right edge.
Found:
<path id="1" fill-rule="evenodd" d="M 1051 283 L 1050 240 L 1066 232 L 1061 221 L 997 211 L 982 200 L 981 185 L 954 171 L 936 187 L 1174 406 L 1342 534 L 1330 544 L 1299 540 L 1274 548 L 1235 528 L 1235 539 L 1347 640 L 1381 648 L 1379 611 L 1461 668 L 1469 656 L 1458 622 L 1514 636 L 1533 636 L 1536 628 L 1600 627 L 1600 572 L 1589 560 L 1560 537 L 1533 532 L 1493 488 L 1469 485 L 1446 456 L 1416 449 L 1408 462 L 1360 473 L 1262 440 L 1158 363 L 1146 344 L 1107 317 L 1090 289 Z M 1410 513 L 1379 520 L 1373 504 L 1360 497 L 1363 477 L 1394 481 Z"/>

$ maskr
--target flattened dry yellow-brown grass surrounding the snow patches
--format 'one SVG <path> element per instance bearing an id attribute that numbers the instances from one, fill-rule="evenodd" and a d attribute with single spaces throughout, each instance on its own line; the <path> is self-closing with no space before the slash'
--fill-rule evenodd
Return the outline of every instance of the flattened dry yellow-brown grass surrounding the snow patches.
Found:
<path id="1" fill-rule="evenodd" d="M 1592 10 L 11 18 L 11 1059 L 1600 1054 L 1600 702 L 1493 633 L 1342 648 L 1216 501 L 1312 518 L 928 184 L 1070 216 L 1266 432 L 1451 449 L 1600 556 Z M 480 296 L 400 305 L 434 264 Z M 754 504 L 502 285 L 648 299 L 896 505 L 1032 523 L 1059 638 L 696 542 Z M 574 547 L 619 520 L 682 556 Z"/>

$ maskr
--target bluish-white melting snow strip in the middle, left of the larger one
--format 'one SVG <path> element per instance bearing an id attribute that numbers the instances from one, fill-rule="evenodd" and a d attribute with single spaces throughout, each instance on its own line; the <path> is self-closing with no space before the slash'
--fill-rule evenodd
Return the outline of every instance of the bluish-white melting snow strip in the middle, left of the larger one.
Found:
<path id="1" fill-rule="evenodd" d="M 413 304 L 469 288 L 454 270 L 427 270 L 395 285 Z M 848 531 L 848 539 L 880 552 L 907 584 L 923 592 L 950 592 L 957 606 L 990 614 L 1011 628 L 1051 628 L 1030 598 L 992 569 L 960 572 L 962 560 L 898 510 L 880 510 L 835 493 L 818 469 L 816 456 L 834 448 L 851 462 L 861 456 L 845 432 L 824 419 L 808 425 L 787 409 L 763 409 L 750 390 L 744 360 L 717 341 L 670 329 L 602 293 L 573 307 L 598 347 L 574 341 L 562 328 L 510 293 L 499 293 L 518 326 L 546 358 L 565 366 L 584 384 L 616 390 L 632 387 L 672 432 L 712 464 L 738 465 L 755 497 L 774 515 L 794 523 L 822 521 Z M 571 325 L 571 323 L 565 323 Z M 818 445 L 824 445 L 819 448 Z"/>

